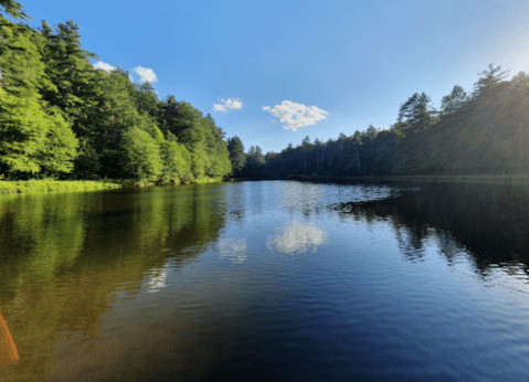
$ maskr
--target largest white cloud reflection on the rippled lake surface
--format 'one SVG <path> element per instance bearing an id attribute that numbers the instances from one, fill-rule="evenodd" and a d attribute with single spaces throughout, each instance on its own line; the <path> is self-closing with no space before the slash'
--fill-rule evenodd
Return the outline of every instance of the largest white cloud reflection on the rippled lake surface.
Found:
<path id="1" fill-rule="evenodd" d="M 292 222 L 282 227 L 282 231 L 266 241 L 271 251 L 283 254 L 315 252 L 327 242 L 327 232 L 313 222 Z"/>

